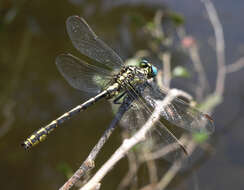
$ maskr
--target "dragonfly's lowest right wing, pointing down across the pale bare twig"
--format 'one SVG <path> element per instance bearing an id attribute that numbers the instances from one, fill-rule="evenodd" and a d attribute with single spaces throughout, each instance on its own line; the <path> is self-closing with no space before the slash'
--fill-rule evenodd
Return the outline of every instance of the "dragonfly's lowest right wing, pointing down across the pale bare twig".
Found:
<path id="1" fill-rule="evenodd" d="M 139 91 L 141 91 L 141 89 L 139 89 Z M 146 102 L 141 99 L 141 94 L 138 92 L 138 87 L 137 89 L 128 88 L 128 95 L 132 96 L 135 100 L 132 103 L 131 108 L 122 117 L 120 125 L 125 129 L 136 131 L 149 119 L 154 108 L 148 107 Z M 158 121 L 149 132 L 148 137 L 143 143 L 142 147 L 146 148 L 146 151 L 152 153 L 164 148 L 167 145 L 179 146 L 172 153 L 164 157 L 170 162 L 175 161 L 186 153 L 185 148 L 176 138 L 176 136 L 160 121 Z"/>

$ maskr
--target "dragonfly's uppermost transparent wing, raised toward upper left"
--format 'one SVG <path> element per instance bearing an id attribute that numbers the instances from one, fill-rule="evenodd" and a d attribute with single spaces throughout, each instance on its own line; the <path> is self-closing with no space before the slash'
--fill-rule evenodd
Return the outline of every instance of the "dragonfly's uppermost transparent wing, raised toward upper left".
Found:
<path id="1" fill-rule="evenodd" d="M 97 37 L 83 18 L 70 16 L 66 21 L 66 27 L 75 48 L 94 60 L 94 65 L 111 71 L 121 67 L 122 59 Z"/>

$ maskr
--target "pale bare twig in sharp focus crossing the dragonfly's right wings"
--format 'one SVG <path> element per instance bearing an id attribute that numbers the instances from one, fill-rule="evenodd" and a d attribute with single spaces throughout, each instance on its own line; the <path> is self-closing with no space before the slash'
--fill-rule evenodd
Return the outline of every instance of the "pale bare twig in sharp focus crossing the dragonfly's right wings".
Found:
<path id="1" fill-rule="evenodd" d="M 177 89 L 172 89 L 169 91 L 167 96 L 162 101 L 157 101 L 155 110 L 144 124 L 144 126 L 130 139 L 125 139 L 122 145 L 115 151 L 111 158 L 98 170 L 98 172 L 88 181 L 88 183 L 83 186 L 80 190 L 91 190 L 100 187 L 100 181 L 103 177 L 113 168 L 113 166 L 125 156 L 125 154 L 137 143 L 142 142 L 146 138 L 147 132 L 152 128 L 155 122 L 160 118 L 160 112 L 167 106 L 175 97 L 184 96 L 182 91 Z"/>

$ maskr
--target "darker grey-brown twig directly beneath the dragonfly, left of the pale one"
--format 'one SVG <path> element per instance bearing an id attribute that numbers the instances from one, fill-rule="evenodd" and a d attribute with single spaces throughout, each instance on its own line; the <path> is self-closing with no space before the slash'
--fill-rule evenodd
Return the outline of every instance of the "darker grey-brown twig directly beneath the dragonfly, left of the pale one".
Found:
<path id="1" fill-rule="evenodd" d="M 107 142 L 108 138 L 114 131 L 117 123 L 122 118 L 123 114 L 129 109 L 130 104 L 132 103 L 133 98 L 127 96 L 121 106 L 119 107 L 118 112 L 116 113 L 114 119 L 110 123 L 110 126 L 103 133 L 102 137 L 99 139 L 98 143 L 92 149 L 87 159 L 82 163 L 80 168 L 74 173 L 74 175 L 60 188 L 60 190 L 70 189 L 81 177 L 83 177 L 89 170 L 95 167 L 95 159 L 102 149 L 103 145 Z"/>

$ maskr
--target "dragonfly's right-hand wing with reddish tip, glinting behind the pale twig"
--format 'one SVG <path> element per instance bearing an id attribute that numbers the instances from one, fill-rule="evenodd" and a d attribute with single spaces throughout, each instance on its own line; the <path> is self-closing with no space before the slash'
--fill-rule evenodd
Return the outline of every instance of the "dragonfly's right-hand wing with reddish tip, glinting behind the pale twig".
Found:
<path id="1" fill-rule="evenodd" d="M 163 99 L 167 92 L 155 86 L 145 89 L 143 98 L 151 106 L 155 106 L 155 100 Z M 161 115 L 171 124 L 189 130 L 191 132 L 208 133 L 214 132 L 214 124 L 210 116 L 191 107 L 180 98 L 175 98 L 162 111 Z"/>

